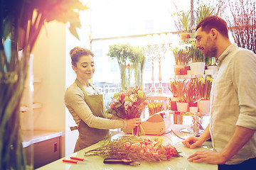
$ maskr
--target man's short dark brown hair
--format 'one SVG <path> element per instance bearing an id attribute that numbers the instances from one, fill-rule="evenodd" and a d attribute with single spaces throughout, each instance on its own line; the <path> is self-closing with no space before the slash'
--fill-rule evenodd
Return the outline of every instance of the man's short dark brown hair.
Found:
<path id="1" fill-rule="evenodd" d="M 206 33 L 209 33 L 212 28 L 215 28 L 221 35 L 228 38 L 228 25 L 218 16 L 207 16 L 206 18 L 203 18 L 203 20 L 196 26 L 196 30 L 198 30 L 198 28 L 202 28 Z"/>

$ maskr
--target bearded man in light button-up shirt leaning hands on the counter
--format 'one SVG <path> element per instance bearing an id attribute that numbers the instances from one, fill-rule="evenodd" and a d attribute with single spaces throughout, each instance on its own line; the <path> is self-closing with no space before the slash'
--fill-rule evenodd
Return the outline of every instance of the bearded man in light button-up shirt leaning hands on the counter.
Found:
<path id="1" fill-rule="evenodd" d="M 218 164 L 219 169 L 256 167 L 256 55 L 232 44 L 227 23 L 218 16 L 204 18 L 196 28 L 196 47 L 218 59 L 211 89 L 210 123 L 200 137 L 183 145 L 200 147 L 210 139 L 213 151 L 195 152 L 188 161 Z"/>

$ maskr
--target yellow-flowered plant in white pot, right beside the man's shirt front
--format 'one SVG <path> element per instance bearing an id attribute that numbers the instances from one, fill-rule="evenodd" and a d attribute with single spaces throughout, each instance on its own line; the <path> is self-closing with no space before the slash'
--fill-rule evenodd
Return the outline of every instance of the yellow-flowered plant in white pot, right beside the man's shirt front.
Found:
<path id="1" fill-rule="evenodd" d="M 196 79 L 196 89 L 198 91 L 198 110 L 201 113 L 210 112 L 210 90 L 213 84 L 213 78 L 207 75 L 205 78 Z"/>

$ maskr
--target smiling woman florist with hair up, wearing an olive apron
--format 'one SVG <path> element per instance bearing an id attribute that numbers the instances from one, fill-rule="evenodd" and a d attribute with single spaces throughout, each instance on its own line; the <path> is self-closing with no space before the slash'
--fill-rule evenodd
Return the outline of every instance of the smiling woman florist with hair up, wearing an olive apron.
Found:
<path id="1" fill-rule="evenodd" d="M 141 123 L 140 118 L 107 119 L 102 94 L 89 83 L 95 72 L 94 54 L 90 50 L 75 47 L 70 51 L 70 57 L 77 79 L 65 92 L 65 106 L 78 125 L 79 137 L 74 152 L 109 137 L 110 129 L 130 129 Z"/>

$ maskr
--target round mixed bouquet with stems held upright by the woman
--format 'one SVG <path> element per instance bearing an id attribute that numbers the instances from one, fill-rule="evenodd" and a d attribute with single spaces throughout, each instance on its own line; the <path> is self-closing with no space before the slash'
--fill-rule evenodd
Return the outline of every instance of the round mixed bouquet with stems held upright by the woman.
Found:
<path id="1" fill-rule="evenodd" d="M 139 118 L 149 103 L 146 98 L 148 98 L 146 91 L 137 87 L 122 89 L 114 94 L 107 113 L 122 119 Z M 142 125 L 134 128 L 132 135 L 145 135 Z"/>

